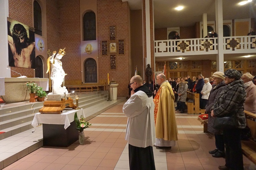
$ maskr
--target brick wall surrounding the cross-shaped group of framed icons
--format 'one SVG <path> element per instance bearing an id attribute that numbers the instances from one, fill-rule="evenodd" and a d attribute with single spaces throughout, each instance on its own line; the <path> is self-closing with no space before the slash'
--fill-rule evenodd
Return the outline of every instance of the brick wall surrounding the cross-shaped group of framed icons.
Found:
<path id="1" fill-rule="evenodd" d="M 98 56 L 99 56 L 99 79 L 114 79 L 118 85 L 117 95 L 128 95 L 129 78 L 129 28 L 128 28 L 128 2 L 121 0 L 97 0 L 97 25 L 98 25 Z M 110 41 L 109 26 L 116 27 L 116 40 L 125 40 L 125 55 L 116 54 L 116 70 L 110 70 L 110 54 L 101 55 L 101 41 Z M 112 41 L 111 41 L 112 42 Z M 113 54 L 113 53 L 111 53 Z M 127 72 L 127 74 L 125 74 Z"/>

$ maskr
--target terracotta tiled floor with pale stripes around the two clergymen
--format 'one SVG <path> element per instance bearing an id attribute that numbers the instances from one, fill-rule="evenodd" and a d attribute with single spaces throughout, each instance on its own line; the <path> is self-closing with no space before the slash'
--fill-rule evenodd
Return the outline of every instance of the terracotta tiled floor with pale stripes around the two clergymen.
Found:
<path id="1" fill-rule="evenodd" d="M 84 145 L 77 141 L 68 148 L 43 146 L 4 169 L 129 169 L 128 144 L 124 140 L 127 118 L 122 113 L 123 104 L 119 103 L 89 121 L 92 126 L 84 131 Z M 176 146 L 171 150 L 153 147 L 157 170 L 216 170 L 225 164 L 224 158 L 214 158 L 208 153 L 215 148 L 214 136 L 203 133 L 197 115 L 176 112 L 176 121 L 179 130 Z M 250 160 L 243 159 L 245 169 L 256 169 Z"/>

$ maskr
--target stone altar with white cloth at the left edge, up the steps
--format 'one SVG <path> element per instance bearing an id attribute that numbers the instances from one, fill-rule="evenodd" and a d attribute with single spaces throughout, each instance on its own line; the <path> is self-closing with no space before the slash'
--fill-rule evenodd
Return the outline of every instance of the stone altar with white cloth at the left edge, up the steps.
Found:
<path id="1" fill-rule="evenodd" d="M 44 91 L 49 90 L 48 78 L 4 78 L 0 77 L 0 95 L 5 102 L 23 102 L 29 100 L 26 82 L 35 82 Z"/>

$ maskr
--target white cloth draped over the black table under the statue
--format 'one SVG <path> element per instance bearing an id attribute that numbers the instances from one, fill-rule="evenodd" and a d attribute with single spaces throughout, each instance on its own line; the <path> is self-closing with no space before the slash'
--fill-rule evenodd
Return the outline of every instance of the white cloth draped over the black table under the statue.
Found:
<path id="1" fill-rule="evenodd" d="M 35 113 L 34 119 L 32 121 L 32 126 L 37 127 L 39 123 L 44 124 L 58 124 L 64 125 L 64 128 L 67 129 L 70 126 L 70 122 L 74 121 L 75 112 L 77 113 L 78 119 L 80 115 L 84 115 L 84 110 L 74 110 L 74 109 L 64 109 L 61 114 L 47 114 L 47 113 Z"/>

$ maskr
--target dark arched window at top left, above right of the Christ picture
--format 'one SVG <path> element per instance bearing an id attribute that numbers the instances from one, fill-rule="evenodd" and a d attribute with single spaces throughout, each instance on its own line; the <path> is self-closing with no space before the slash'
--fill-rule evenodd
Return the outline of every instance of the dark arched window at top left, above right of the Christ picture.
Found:
<path id="1" fill-rule="evenodd" d="M 42 10 L 37 1 L 34 1 L 34 29 L 35 34 L 42 36 Z"/>

